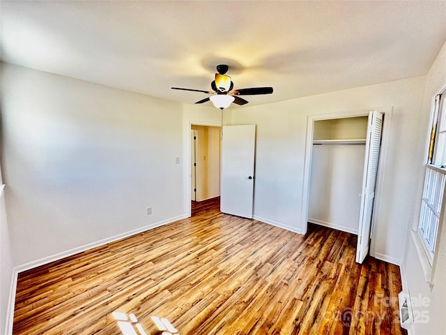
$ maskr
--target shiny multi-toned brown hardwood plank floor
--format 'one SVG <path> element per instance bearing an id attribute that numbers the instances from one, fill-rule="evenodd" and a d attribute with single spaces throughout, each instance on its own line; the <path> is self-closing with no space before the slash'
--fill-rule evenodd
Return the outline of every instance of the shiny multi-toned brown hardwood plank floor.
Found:
<path id="1" fill-rule="evenodd" d="M 218 199 L 192 213 L 20 274 L 14 334 L 162 334 L 153 315 L 180 335 L 406 334 L 398 267 L 357 265 L 355 235 L 295 234 L 221 214 Z"/>

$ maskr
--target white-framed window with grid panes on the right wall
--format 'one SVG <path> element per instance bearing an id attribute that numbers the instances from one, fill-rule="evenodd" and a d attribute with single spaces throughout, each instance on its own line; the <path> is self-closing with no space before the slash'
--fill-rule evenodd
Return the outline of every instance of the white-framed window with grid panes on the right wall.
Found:
<path id="1" fill-rule="evenodd" d="M 446 184 L 446 94 L 435 99 L 418 233 L 431 266 Z"/>

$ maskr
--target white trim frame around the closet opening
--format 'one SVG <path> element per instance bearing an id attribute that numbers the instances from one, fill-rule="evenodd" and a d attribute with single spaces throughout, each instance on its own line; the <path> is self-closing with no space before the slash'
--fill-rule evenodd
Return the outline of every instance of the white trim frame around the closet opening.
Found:
<path id="1" fill-rule="evenodd" d="M 368 117 L 371 110 L 377 110 L 384 114 L 384 124 L 382 131 L 382 140 L 380 147 L 380 164 L 378 164 L 377 183 L 374 202 L 374 216 L 371 222 L 371 236 L 373 237 L 376 229 L 375 221 L 377 221 L 380 214 L 381 201 L 384 188 L 385 166 L 387 165 L 387 149 L 390 136 L 390 125 L 392 123 L 392 106 L 375 107 L 367 110 L 357 110 L 351 112 L 336 112 L 328 114 L 314 114 L 307 118 L 307 137 L 305 142 L 305 161 L 304 161 L 304 181 L 302 186 L 302 208 L 301 208 L 301 222 L 302 234 L 306 234 L 308 230 L 308 209 L 309 209 L 309 191 L 312 171 L 312 154 L 313 154 L 313 135 L 314 135 L 314 121 L 322 121 L 329 119 L 344 119 L 346 117 Z M 359 218 L 358 218 L 359 220 Z M 374 239 L 370 242 L 370 255 L 376 256 Z"/>

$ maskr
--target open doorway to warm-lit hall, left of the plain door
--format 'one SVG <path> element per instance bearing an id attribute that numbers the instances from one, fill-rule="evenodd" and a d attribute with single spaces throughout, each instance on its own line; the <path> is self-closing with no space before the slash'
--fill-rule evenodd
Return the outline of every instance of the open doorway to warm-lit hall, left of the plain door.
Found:
<path id="1" fill-rule="evenodd" d="M 220 198 L 222 128 L 192 124 L 190 133 L 191 216 L 194 216 L 206 208 L 204 202 Z"/>

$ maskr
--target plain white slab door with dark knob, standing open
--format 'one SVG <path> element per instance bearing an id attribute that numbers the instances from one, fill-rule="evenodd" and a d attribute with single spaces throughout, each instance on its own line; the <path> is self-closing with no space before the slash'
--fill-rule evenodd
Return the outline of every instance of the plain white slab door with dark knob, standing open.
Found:
<path id="1" fill-rule="evenodd" d="M 220 210 L 252 218 L 256 126 L 224 126 Z"/>

